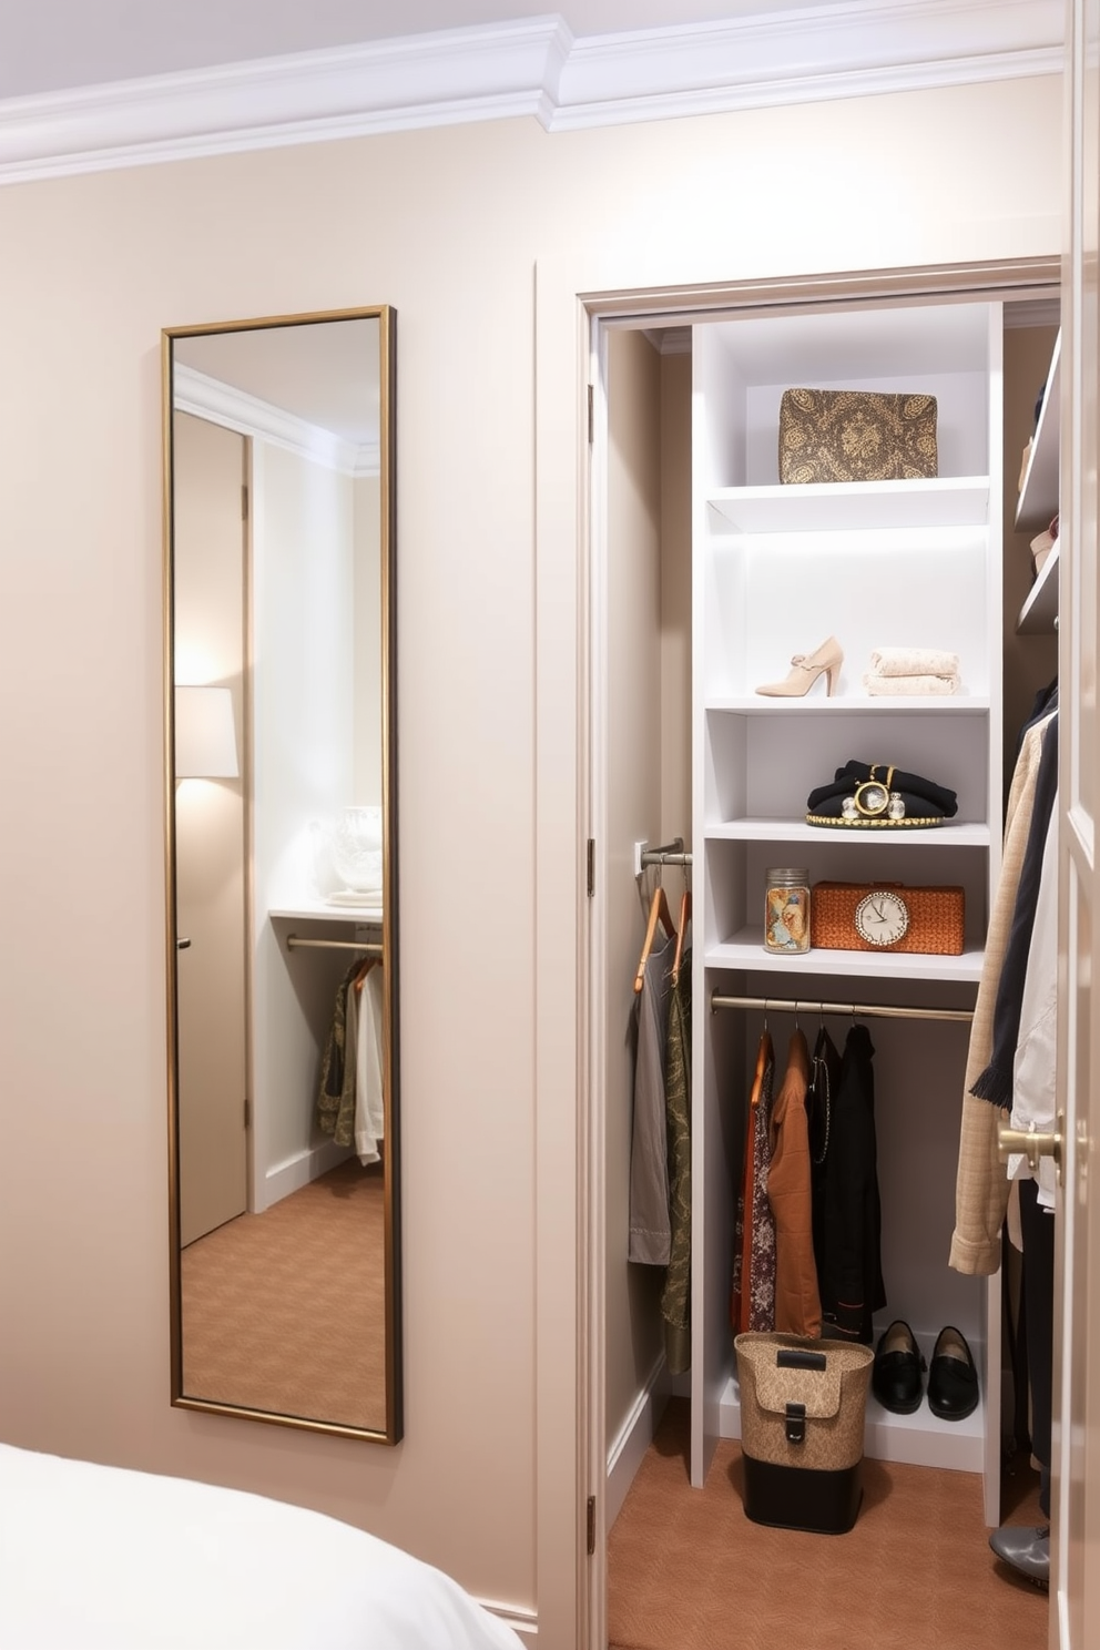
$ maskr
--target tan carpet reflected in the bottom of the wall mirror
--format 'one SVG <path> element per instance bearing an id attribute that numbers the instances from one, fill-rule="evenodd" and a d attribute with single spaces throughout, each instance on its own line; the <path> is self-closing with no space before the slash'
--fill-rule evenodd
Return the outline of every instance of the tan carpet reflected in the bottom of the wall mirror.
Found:
<path id="1" fill-rule="evenodd" d="M 183 1389 L 384 1427 L 384 1193 L 356 1158 L 183 1251 Z"/>

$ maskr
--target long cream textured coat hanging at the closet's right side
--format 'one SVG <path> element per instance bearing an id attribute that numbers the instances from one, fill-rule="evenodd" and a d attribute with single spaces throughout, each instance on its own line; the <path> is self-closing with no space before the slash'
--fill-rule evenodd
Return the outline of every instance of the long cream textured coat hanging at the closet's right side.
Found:
<path id="1" fill-rule="evenodd" d="M 970 1026 L 966 1081 L 963 1084 L 963 1122 L 958 1142 L 958 1176 L 955 1181 L 955 1233 L 950 1266 L 957 1272 L 996 1272 L 1001 1264 L 1001 1226 L 1008 1209 L 1009 1178 L 998 1157 L 998 1124 L 1008 1112 L 970 1092 L 993 1054 L 993 1005 L 1001 982 L 1004 949 L 1013 926 L 1019 873 L 1036 804 L 1036 777 L 1042 736 L 1051 718 L 1044 718 L 1024 734 L 1004 817 L 1004 860 L 993 899 L 985 962 Z"/>

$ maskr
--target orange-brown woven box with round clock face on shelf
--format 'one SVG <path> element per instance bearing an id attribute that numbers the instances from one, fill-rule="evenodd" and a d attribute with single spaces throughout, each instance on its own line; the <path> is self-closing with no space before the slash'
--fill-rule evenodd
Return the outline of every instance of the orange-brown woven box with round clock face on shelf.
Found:
<path id="1" fill-rule="evenodd" d="M 861 906 L 886 894 L 886 912 Z M 900 939 L 874 940 L 876 921 L 886 916 L 886 932 L 902 908 L 907 926 Z M 810 944 L 831 950 L 905 950 L 960 957 L 966 903 L 961 888 L 907 888 L 904 883 L 815 883 L 810 891 Z"/>

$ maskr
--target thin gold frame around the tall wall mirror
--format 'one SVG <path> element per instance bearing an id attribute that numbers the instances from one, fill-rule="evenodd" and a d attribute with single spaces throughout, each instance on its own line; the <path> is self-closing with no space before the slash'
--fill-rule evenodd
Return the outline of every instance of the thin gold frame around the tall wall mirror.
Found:
<path id="1" fill-rule="evenodd" d="M 183 1239 L 181 1239 L 181 1084 L 180 1084 L 180 957 L 181 949 L 190 945 L 186 934 L 180 931 L 180 865 L 178 865 L 178 817 L 176 795 L 180 776 L 176 772 L 176 361 L 186 340 L 216 340 L 221 335 L 267 335 L 279 328 L 328 327 L 341 322 L 378 322 L 378 564 L 381 574 L 379 591 L 379 637 L 378 657 L 379 672 L 379 766 L 381 766 L 381 921 L 378 927 L 366 929 L 376 937 L 381 929 L 381 1200 L 374 1186 L 371 1196 L 376 1206 L 381 1204 L 383 1244 L 381 1244 L 381 1290 L 384 1294 L 384 1346 L 381 1355 L 381 1384 L 378 1417 L 371 1414 L 363 1424 L 348 1421 L 346 1416 L 305 1414 L 305 1404 L 280 1406 L 274 1402 L 257 1404 L 249 1401 L 246 1393 L 219 1393 L 208 1396 L 200 1391 L 188 1391 L 185 1379 L 185 1285 L 183 1285 Z M 303 337 L 303 335 L 302 335 Z M 170 1213 L 170 1325 L 172 1325 L 172 1404 L 181 1409 L 195 1409 L 213 1414 L 237 1416 L 242 1419 L 267 1421 L 277 1426 L 299 1427 L 307 1431 L 330 1432 L 345 1437 L 361 1437 L 379 1444 L 397 1444 L 402 1437 L 402 1312 L 401 1312 L 401 1213 L 399 1213 L 399 970 L 397 970 L 397 721 L 396 721 L 396 310 L 391 305 L 364 309 L 348 309 L 318 314 L 262 317 L 236 322 L 218 322 L 196 327 L 172 327 L 162 332 L 162 386 L 163 386 L 163 658 L 165 658 L 165 886 L 167 886 L 167 985 L 168 985 L 168 1213 Z M 246 469 L 251 480 L 252 441 L 246 437 Z M 244 818 L 244 1018 L 246 1018 L 246 1104 L 244 1129 L 252 1129 L 254 1112 L 254 957 L 251 937 L 256 934 L 254 911 L 254 866 L 252 866 L 252 825 L 254 810 L 252 772 L 251 772 L 251 718 L 254 713 L 252 693 L 252 642 L 249 606 L 252 601 L 252 525 L 244 531 L 244 640 L 241 670 L 241 705 L 237 708 L 237 724 L 246 729 L 244 751 L 241 759 L 241 808 Z M 191 772 L 195 772 L 191 769 Z M 216 767 L 209 776 L 216 776 Z M 200 780 L 204 782 L 204 780 Z M 269 927 L 275 929 L 274 912 L 267 916 Z M 336 911 L 333 924 L 358 921 L 346 912 Z M 297 924 L 295 924 L 297 926 Z M 331 929 L 313 927 L 312 932 L 331 932 Z M 338 927 L 335 932 L 350 932 Z M 356 936 L 363 929 L 355 929 Z M 295 936 L 285 926 L 272 940 L 282 954 L 289 952 Z M 302 939 L 297 940 L 302 944 Z M 369 949 L 369 947 L 368 947 Z M 378 947 L 374 947 L 378 949 Z M 313 954 L 315 955 L 315 954 Z M 346 957 L 341 959 L 341 967 Z M 236 967 L 236 965 L 234 965 Z M 252 1147 L 254 1147 L 254 1137 Z M 350 1160 L 351 1162 L 351 1160 Z M 252 1195 L 249 1191 L 249 1208 Z M 345 1198 L 345 1201 L 353 1201 Z M 259 1219 L 262 1221 L 262 1214 Z M 229 1224 L 229 1223 L 228 1223 Z M 355 1302 L 348 1304 L 355 1312 Z M 317 1345 L 317 1343 L 313 1343 Z"/>

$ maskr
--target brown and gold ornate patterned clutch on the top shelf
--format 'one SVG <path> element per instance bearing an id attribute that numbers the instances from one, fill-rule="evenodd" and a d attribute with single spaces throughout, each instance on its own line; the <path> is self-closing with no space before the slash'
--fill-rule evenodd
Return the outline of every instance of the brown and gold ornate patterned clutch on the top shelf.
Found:
<path id="1" fill-rule="evenodd" d="M 780 482 L 904 482 L 937 474 L 935 396 L 785 389 Z"/>

